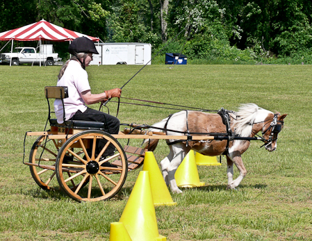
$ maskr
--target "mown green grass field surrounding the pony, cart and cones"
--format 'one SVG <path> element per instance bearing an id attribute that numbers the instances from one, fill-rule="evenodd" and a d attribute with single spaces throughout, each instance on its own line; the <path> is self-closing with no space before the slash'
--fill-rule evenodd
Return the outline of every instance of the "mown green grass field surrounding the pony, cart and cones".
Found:
<path id="1" fill-rule="evenodd" d="M 124 85 L 141 67 L 88 67 L 92 92 Z M 116 197 L 97 203 L 77 203 L 35 184 L 22 164 L 24 134 L 43 131 L 44 86 L 56 85 L 59 69 L 0 66 L 0 240 L 109 240 L 110 223 L 119 221 L 140 172 L 128 174 Z M 312 240 L 311 76 L 311 65 L 150 65 L 123 88 L 123 97 L 212 110 L 256 103 L 288 114 L 277 151 L 252 142 L 244 153 L 248 173 L 238 190 L 226 190 L 225 158 L 219 167 L 199 166 L 204 187 L 172 194 L 176 206 L 156 207 L 161 235 L 167 240 Z M 115 115 L 116 104 L 108 106 Z M 173 112 L 122 105 L 118 118 L 153 124 Z M 34 141 L 26 139 L 26 159 Z M 161 141 L 154 152 L 158 163 L 167 153 Z"/>

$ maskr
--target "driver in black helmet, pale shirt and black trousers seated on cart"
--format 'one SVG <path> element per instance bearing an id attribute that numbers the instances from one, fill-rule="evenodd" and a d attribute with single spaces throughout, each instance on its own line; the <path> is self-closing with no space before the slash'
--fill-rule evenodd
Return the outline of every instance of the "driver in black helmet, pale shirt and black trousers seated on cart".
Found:
<path id="1" fill-rule="evenodd" d="M 68 98 L 63 99 L 65 119 L 104 122 L 104 131 L 110 134 L 117 134 L 120 128 L 119 119 L 99 110 L 89 108 L 86 105 L 106 101 L 113 97 L 119 98 L 122 90 L 115 88 L 113 90 L 105 90 L 100 94 L 91 93 L 88 73 L 85 71 L 85 67 L 88 67 L 92 60 L 92 53 L 99 54 L 92 40 L 85 37 L 76 38 L 69 45 L 68 50 L 72 54 L 72 58 L 67 60 L 62 69 L 60 69 L 57 83 L 57 86 L 68 87 Z M 60 99 L 54 101 L 54 108 L 58 123 L 63 123 L 63 104 Z M 104 145 L 105 142 L 99 142 L 97 149 L 103 149 Z M 113 152 L 114 148 L 109 146 L 104 155 L 111 156 Z"/>

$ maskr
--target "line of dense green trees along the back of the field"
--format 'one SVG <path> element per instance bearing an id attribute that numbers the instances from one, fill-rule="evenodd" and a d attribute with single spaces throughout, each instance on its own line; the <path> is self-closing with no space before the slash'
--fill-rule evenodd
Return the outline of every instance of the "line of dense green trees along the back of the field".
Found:
<path id="1" fill-rule="evenodd" d="M 197 60 L 308 60 L 311 0 L 0 0 L 0 32 L 45 19 L 103 42 L 147 42 Z M 3 42 L 0 42 L 3 46 Z"/>

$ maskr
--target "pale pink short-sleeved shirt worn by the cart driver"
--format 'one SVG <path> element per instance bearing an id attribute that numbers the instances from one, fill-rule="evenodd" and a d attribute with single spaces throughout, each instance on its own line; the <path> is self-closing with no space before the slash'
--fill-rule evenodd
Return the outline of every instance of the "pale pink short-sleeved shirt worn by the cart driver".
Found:
<path id="1" fill-rule="evenodd" d="M 88 73 L 75 60 L 70 60 L 65 72 L 58 80 L 57 86 L 68 87 L 68 98 L 64 99 L 65 119 L 70 119 L 78 110 L 85 112 L 87 106 L 81 97 L 81 92 L 91 90 Z M 63 105 L 60 99 L 54 101 L 54 110 L 58 123 L 63 123 Z"/>

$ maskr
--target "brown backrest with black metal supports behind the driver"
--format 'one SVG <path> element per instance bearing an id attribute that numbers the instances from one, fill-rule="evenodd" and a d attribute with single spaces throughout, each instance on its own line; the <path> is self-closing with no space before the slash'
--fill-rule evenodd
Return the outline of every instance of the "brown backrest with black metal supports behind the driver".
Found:
<path id="1" fill-rule="evenodd" d="M 49 115 L 48 119 L 51 124 L 51 113 L 54 113 L 54 111 L 51 111 L 50 101 L 49 99 L 60 99 L 63 104 L 63 120 L 65 123 L 65 107 L 64 107 L 64 99 L 68 97 L 68 88 L 67 86 L 46 86 L 44 87 L 44 94 L 47 98 L 48 106 L 49 106 Z"/>

